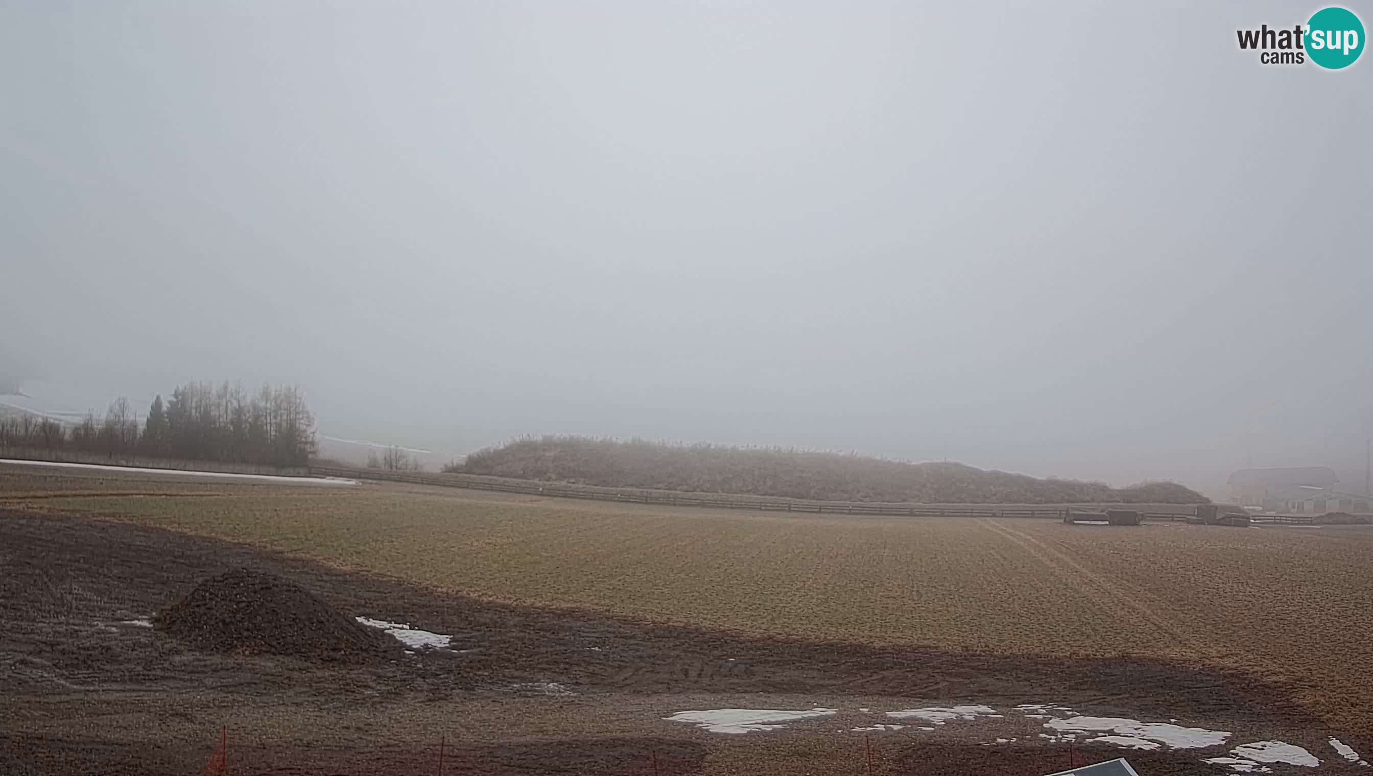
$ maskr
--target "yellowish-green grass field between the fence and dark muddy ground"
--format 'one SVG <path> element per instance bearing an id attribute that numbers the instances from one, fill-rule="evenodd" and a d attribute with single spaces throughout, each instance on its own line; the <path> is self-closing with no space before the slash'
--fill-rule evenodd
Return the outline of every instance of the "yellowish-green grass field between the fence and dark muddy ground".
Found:
<path id="1" fill-rule="evenodd" d="M 754 515 L 159 477 L 0 470 L 0 501 L 500 600 L 879 644 L 1247 667 L 1346 724 L 1373 720 L 1369 529 Z"/>

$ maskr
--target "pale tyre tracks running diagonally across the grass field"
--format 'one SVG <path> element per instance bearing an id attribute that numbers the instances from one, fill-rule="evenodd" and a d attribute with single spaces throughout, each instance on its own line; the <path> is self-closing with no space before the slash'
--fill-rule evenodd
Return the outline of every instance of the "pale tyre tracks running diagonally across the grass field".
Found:
<path id="1" fill-rule="evenodd" d="M 1054 574 L 1068 582 L 1074 591 L 1092 599 L 1103 611 L 1111 613 L 1126 608 L 1141 621 L 1148 622 L 1156 630 L 1168 636 L 1175 646 L 1182 647 L 1189 654 L 1188 657 L 1207 662 L 1229 662 L 1227 650 L 1212 644 L 1210 640 L 1197 639 L 1179 628 L 1178 624 L 1185 619 L 1182 613 L 1157 596 L 1134 585 L 1108 580 L 1078 563 L 1063 549 L 1053 548 L 997 519 L 983 518 L 979 522 L 1048 566 Z"/>

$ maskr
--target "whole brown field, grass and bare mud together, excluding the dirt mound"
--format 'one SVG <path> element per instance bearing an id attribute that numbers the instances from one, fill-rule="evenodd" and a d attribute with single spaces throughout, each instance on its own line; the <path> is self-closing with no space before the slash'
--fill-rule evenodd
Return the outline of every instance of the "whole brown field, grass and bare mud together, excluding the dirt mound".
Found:
<path id="1" fill-rule="evenodd" d="M 58 764 L 26 765 L 36 773 L 71 762 L 188 772 L 220 724 L 254 742 L 244 757 L 261 772 L 386 771 L 441 733 L 476 771 L 616 772 L 662 749 L 681 772 L 857 772 L 847 758 L 859 733 L 836 731 L 861 720 L 842 717 L 822 740 L 806 725 L 719 736 L 659 720 L 811 703 L 850 714 L 1068 702 L 1282 738 L 1322 769 L 1346 768 L 1317 751 L 1326 735 L 1373 754 L 1373 530 L 1357 526 L 759 515 L 0 467 L 0 554 L 4 772 L 23 772 L 29 750 Z M 474 652 L 341 678 L 74 625 L 152 614 L 236 564 L 290 575 L 354 614 L 453 633 Z M 578 695 L 496 689 L 529 681 Z M 96 714 L 91 688 L 144 710 L 77 724 Z M 986 760 L 976 729 L 884 733 L 879 768 L 960 772 Z M 158 750 L 165 764 L 111 765 L 154 733 L 172 742 Z M 575 754 L 549 760 L 549 747 L 529 749 L 538 740 Z M 1011 747 L 997 762 L 1024 773 L 1053 746 Z M 1197 755 L 1130 757 L 1155 772 L 1223 772 Z M 943 765 L 914 766 L 927 760 Z"/>

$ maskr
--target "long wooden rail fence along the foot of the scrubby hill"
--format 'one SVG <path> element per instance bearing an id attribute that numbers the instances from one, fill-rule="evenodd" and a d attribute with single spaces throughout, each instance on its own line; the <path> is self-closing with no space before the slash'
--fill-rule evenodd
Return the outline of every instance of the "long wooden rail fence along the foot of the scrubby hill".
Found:
<path id="1" fill-rule="evenodd" d="M 423 471 L 389 471 L 380 468 L 339 468 L 312 466 L 310 474 L 347 477 L 351 479 L 384 479 L 416 485 L 470 488 L 503 493 L 526 493 L 556 499 L 589 499 L 596 501 L 626 501 L 634 504 L 662 504 L 667 507 L 708 507 L 717 510 L 751 510 L 765 512 L 814 512 L 831 515 L 890 515 L 890 516 L 982 516 L 982 518 L 1063 518 L 1067 504 L 891 504 L 870 501 L 809 501 L 799 499 L 768 499 L 761 496 L 695 494 L 667 490 L 640 490 L 597 488 L 590 485 L 541 483 L 527 479 L 500 479 L 471 474 L 432 474 Z M 1138 505 L 1118 504 L 1120 508 Z M 1152 504 L 1151 507 L 1159 507 Z M 1146 511 L 1145 519 L 1182 521 L 1196 515 L 1196 508 L 1178 504 L 1175 511 Z"/>

